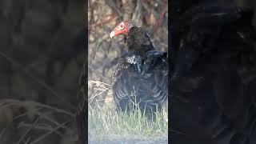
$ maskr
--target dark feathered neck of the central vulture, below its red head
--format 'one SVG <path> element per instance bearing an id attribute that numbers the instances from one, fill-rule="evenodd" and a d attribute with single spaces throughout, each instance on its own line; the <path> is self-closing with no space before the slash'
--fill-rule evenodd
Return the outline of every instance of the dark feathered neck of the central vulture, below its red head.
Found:
<path id="1" fill-rule="evenodd" d="M 133 26 L 126 35 L 126 50 L 137 55 L 144 55 L 147 51 L 154 50 L 154 46 L 142 28 Z"/>

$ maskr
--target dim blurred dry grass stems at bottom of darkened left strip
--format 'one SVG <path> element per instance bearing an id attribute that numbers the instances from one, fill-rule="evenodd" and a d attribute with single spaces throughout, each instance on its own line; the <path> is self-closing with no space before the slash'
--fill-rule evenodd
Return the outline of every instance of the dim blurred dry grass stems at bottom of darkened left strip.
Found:
<path id="1" fill-rule="evenodd" d="M 6 133 L 7 129 L 10 129 L 14 123 L 18 126 L 15 129 L 22 130 L 22 136 L 18 138 L 17 144 L 29 143 L 34 144 L 41 142 L 44 138 L 47 138 L 50 134 L 56 134 L 59 137 L 64 137 L 62 130 L 67 131 L 70 134 L 70 141 L 76 142 L 78 140 L 77 132 L 67 124 L 74 121 L 74 114 L 70 111 L 58 109 L 54 106 L 44 105 L 34 101 L 20 101 L 17 99 L 2 99 L 0 101 L 0 110 L 6 109 L 25 109 L 25 112 L 15 116 L 12 121 L 3 129 L 0 133 L 0 139 Z M 54 115 L 65 115 L 66 119 L 70 119 L 65 122 L 60 122 Z M 32 134 L 34 132 L 40 134 Z"/>

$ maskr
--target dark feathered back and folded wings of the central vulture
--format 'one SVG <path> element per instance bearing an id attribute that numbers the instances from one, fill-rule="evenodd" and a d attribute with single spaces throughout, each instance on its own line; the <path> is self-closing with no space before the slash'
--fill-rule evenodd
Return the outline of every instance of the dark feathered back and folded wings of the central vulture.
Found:
<path id="1" fill-rule="evenodd" d="M 142 58 L 142 63 L 139 63 L 127 62 L 127 58 L 129 56 L 119 59 L 113 76 L 112 88 L 117 106 L 126 110 L 127 106 L 137 103 L 142 110 L 161 108 L 167 99 L 166 61 L 148 58 L 147 63 Z"/>

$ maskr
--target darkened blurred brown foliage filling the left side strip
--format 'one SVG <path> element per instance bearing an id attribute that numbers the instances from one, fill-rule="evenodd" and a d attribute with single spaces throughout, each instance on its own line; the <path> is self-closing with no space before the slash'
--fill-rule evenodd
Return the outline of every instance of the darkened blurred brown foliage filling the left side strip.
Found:
<path id="1" fill-rule="evenodd" d="M 79 0 L 0 2 L 1 144 L 76 143 L 85 22 Z"/>

